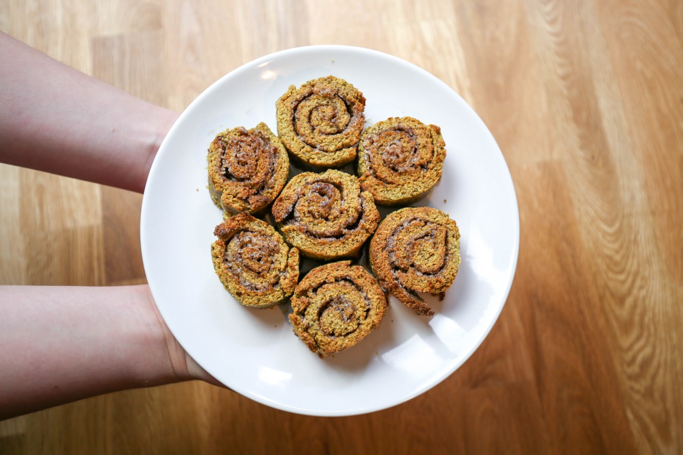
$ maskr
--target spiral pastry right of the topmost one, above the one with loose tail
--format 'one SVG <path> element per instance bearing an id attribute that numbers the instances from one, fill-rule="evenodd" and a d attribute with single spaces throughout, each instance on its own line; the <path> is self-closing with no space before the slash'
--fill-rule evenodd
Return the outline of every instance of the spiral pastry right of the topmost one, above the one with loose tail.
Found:
<path id="1" fill-rule="evenodd" d="M 390 117 L 363 132 L 357 171 L 361 188 L 380 205 L 421 199 L 441 178 L 446 145 L 441 128 L 413 117 Z"/>

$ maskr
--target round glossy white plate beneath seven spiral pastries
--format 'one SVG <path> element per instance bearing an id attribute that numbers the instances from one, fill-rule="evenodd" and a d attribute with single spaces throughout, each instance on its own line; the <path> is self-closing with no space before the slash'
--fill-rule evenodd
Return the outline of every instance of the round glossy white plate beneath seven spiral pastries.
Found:
<path id="1" fill-rule="evenodd" d="M 430 301 L 436 316 L 420 317 L 391 297 L 379 329 L 348 351 L 320 359 L 294 336 L 281 308 L 241 306 L 214 274 L 210 244 L 221 211 L 206 189 L 206 151 L 225 128 L 265 121 L 275 131 L 275 101 L 287 87 L 329 74 L 363 92 L 367 124 L 410 115 L 441 126 L 443 178 L 418 205 L 442 209 L 458 222 L 462 265 L 445 300 Z M 519 216 L 494 138 L 445 83 L 375 50 L 309 46 L 242 65 L 180 115 L 152 165 L 140 234 L 145 272 L 163 318 L 211 375 L 285 411 L 353 415 L 426 392 L 479 347 L 512 285 Z"/>

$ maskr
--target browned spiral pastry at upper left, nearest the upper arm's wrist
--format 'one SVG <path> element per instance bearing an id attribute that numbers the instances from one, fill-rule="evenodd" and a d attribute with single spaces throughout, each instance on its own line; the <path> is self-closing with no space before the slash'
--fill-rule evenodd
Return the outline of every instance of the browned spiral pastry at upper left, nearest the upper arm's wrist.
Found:
<path id="1" fill-rule="evenodd" d="M 266 209 L 285 186 L 290 168 L 287 150 L 266 123 L 219 133 L 208 163 L 211 199 L 232 214 Z"/>

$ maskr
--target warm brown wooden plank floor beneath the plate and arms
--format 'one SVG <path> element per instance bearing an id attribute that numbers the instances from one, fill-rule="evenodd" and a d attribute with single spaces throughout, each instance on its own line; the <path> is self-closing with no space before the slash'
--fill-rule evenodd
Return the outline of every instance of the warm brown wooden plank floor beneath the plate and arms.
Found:
<path id="1" fill-rule="evenodd" d="M 0 30 L 178 111 L 277 50 L 396 55 L 484 119 L 521 223 L 490 336 L 403 405 L 305 417 L 183 383 L 0 422 L 0 453 L 683 452 L 682 2 L 0 0 Z M 0 166 L 0 282 L 145 282 L 140 205 Z"/>

